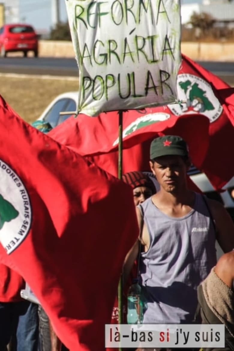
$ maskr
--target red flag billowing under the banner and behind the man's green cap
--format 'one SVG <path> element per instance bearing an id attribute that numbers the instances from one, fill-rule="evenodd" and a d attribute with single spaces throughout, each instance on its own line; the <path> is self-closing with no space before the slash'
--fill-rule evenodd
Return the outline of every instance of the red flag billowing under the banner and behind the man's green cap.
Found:
<path id="1" fill-rule="evenodd" d="M 201 114 L 174 116 L 167 106 L 146 108 L 144 110 L 129 110 L 123 115 L 123 148 L 142 144 L 150 145 L 150 141 L 157 135 L 176 134 L 184 138 L 189 146 L 194 165 L 203 163 L 208 145 L 209 121 Z M 79 114 L 71 117 L 51 130 L 51 138 L 75 150 L 82 156 L 95 156 L 118 150 L 118 112 L 101 113 L 97 118 Z M 147 155 L 143 154 L 148 164 Z M 135 147 L 137 150 L 137 147 Z M 143 147 L 145 151 L 145 147 Z M 127 154 L 127 152 L 125 151 Z M 132 153 L 132 157 L 139 158 L 139 154 Z M 125 172 L 128 172 L 128 160 L 125 161 Z M 147 167 L 148 169 L 148 167 Z M 136 169 L 131 169 L 136 170 Z M 109 172 L 109 171 L 108 171 Z"/>

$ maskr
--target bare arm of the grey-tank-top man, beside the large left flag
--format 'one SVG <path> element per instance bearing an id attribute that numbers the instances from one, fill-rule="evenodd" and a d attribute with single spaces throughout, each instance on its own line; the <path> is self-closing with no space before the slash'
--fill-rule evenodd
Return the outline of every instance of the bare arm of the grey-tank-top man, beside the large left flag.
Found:
<path id="1" fill-rule="evenodd" d="M 136 216 L 138 219 L 139 238 L 140 238 L 141 237 L 140 230 L 142 230 L 142 227 L 143 227 L 142 226 L 143 218 L 141 216 L 141 212 L 140 212 L 138 207 L 136 207 Z M 123 265 L 123 284 L 125 284 L 127 282 L 129 274 L 132 270 L 134 261 L 138 258 L 139 247 L 140 247 L 139 238 L 136 240 L 132 249 L 127 253 L 127 256 L 125 257 L 125 261 L 124 261 L 124 265 Z"/>

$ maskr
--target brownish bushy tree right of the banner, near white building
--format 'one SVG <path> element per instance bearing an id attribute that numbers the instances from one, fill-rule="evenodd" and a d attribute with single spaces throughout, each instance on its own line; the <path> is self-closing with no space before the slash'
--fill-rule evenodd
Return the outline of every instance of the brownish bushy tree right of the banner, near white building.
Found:
<path id="1" fill-rule="evenodd" d="M 190 17 L 189 23 L 198 33 L 196 37 L 205 36 L 207 35 L 210 30 L 213 28 L 214 23 L 216 20 L 206 12 L 196 13 L 193 12 L 192 16 Z"/>

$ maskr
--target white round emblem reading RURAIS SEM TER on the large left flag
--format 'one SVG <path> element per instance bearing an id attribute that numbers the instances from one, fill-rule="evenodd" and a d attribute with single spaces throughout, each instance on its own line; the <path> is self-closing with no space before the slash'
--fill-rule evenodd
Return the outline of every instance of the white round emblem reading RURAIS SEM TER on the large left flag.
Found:
<path id="1" fill-rule="evenodd" d="M 0 241 L 9 254 L 27 236 L 32 209 L 27 190 L 12 168 L 0 160 Z"/>

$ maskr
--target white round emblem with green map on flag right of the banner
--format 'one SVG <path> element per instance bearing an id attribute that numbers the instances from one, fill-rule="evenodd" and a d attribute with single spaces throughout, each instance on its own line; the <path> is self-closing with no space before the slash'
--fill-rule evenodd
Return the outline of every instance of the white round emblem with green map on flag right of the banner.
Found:
<path id="1" fill-rule="evenodd" d="M 181 104 L 167 105 L 176 115 L 188 113 L 201 113 L 214 122 L 221 115 L 223 108 L 213 93 L 208 82 L 188 73 L 179 74 L 177 77 L 178 98 Z"/>

